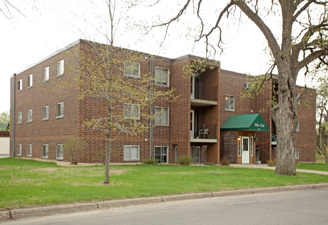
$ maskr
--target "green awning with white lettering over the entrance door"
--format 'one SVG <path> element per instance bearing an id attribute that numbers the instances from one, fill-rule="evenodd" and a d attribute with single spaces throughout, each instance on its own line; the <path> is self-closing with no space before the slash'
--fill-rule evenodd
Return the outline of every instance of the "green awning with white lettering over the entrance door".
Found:
<path id="1" fill-rule="evenodd" d="M 230 116 L 222 125 L 221 131 L 268 131 L 259 114 Z"/>

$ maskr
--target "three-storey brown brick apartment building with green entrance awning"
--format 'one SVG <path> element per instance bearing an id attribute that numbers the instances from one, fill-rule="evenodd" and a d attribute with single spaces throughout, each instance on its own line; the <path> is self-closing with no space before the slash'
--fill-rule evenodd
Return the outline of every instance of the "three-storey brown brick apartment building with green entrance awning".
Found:
<path id="1" fill-rule="evenodd" d="M 104 157 L 101 152 L 106 145 L 105 135 L 82 128 L 94 114 L 106 114 L 105 104 L 96 98 L 80 99 L 72 91 L 53 93 L 38 84 L 58 78 L 70 81 L 66 65 L 72 59 L 65 52 L 83 52 L 90 47 L 86 41 L 78 40 L 12 76 L 11 155 L 68 160 L 63 155 L 64 143 L 72 134 L 78 134 L 87 142 L 80 162 Z M 176 88 L 179 98 L 153 102 L 153 111 L 161 111 L 161 120 L 154 122 L 152 133 L 117 136 L 112 142 L 112 162 L 141 161 L 152 156 L 162 163 L 174 163 L 180 155 L 190 155 L 195 163 L 219 163 L 224 157 L 233 163 L 255 163 L 276 157 L 276 128 L 267 107 L 272 89 L 264 88 L 254 100 L 241 99 L 240 93 L 248 88 L 246 75 L 222 70 L 220 64 L 214 69 L 206 67 L 197 77 L 184 76 L 183 68 L 197 59 L 192 55 L 176 59 L 155 57 L 137 64 L 134 77 L 126 76 L 137 79 L 151 71 L 155 78 L 169 74 L 159 87 Z M 278 81 L 269 81 L 268 87 L 272 84 Z M 303 93 L 301 87 L 298 91 Z M 295 157 L 298 161 L 314 161 L 315 94 L 307 94 L 310 107 L 302 104 L 303 99 L 299 105 Z"/>

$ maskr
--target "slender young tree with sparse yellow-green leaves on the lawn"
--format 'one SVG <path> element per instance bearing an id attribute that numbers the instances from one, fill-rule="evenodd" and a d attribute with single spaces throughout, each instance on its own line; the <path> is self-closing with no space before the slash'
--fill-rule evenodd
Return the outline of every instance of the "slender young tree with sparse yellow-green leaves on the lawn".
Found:
<path id="1" fill-rule="evenodd" d="M 122 134 L 136 136 L 145 132 L 149 128 L 149 120 L 156 116 L 149 115 L 149 111 L 145 109 L 156 99 L 174 100 L 174 89 L 162 91 L 153 86 L 150 90 L 149 85 L 154 81 L 149 73 L 140 74 L 140 77 L 136 78 L 141 63 L 153 60 L 153 57 L 114 46 L 115 31 L 121 19 L 116 19 L 115 14 L 123 16 L 123 13 L 116 12 L 120 9 L 116 6 L 116 1 L 107 0 L 105 3 L 108 14 L 107 21 L 104 21 L 107 24 L 103 27 L 108 29 L 96 29 L 105 37 L 106 44 L 86 40 L 89 47 L 84 51 L 67 53 L 67 57 L 70 61 L 73 59 L 73 63 L 65 64 L 65 73 L 68 71 L 73 83 L 77 85 L 61 79 L 54 85 L 55 89 L 76 91 L 84 99 L 101 99 L 106 105 L 106 114 L 97 111 L 93 118 L 85 122 L 85 126 L 105 134 L 106 159 L 103 183 L 108 184 L 112 141 Z"/>

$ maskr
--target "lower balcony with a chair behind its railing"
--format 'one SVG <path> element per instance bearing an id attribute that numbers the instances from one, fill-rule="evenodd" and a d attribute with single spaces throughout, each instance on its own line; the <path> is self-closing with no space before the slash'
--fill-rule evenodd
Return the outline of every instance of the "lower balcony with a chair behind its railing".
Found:
<path id="1" fill-rule="evenodd" d="M 216 143 L 216 124 L 190 122 L 190 142 Z"/>

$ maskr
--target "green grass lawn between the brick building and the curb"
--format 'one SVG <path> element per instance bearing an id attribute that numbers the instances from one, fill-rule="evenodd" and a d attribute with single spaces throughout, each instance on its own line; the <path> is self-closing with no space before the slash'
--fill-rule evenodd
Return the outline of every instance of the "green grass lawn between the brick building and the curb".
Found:
<path id="1" fill-rule="evenodd" d="M 324 175 L 274 173 L 229 166 L 113 165 L 111 184 L 104 185 L 104 166 L 2 158 L 0 208 L 328 182 Z"/>

